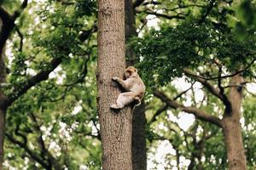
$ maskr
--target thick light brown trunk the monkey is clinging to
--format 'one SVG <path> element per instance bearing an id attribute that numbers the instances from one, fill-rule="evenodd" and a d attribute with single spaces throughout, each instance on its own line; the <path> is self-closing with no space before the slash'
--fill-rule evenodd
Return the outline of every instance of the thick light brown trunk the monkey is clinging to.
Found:
<path id="1" fill-rule="evenodd" d="M 131 170 L 131 107 L 110 110 L 120 91 L 111 81 L 125 71 L 125 2 L 99 0 L 97 109 L 102 137 L 104 170 Z"/>

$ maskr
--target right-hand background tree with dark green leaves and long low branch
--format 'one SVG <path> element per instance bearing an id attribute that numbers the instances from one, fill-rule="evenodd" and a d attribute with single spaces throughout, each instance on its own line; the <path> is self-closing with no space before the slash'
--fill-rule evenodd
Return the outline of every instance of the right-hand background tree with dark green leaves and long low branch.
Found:
<path id="1" fill-rule="evenodd" d="M 200 15 L 192 14 L 193 20 L 189 18 L 175 27 L 162 25 L 160 31 L 148 32 L 139 43 L 138 50 L 144 58 L 142 68 L 147 70 L 146 79 L 154 77 L 151 79 L 152 84 L 164 85 L 172 80 L 172 77 L 186 76 L 191 83 L 200 82 L 209 94 L 222 102 L 223 115 L 218 116 L 218 112 L 215 116 L 207 114 L 203 108 L 185 106 L 165 94 L 154 92 L 156 97 L 173 109 L 194 114 L 202 121 L 222 127 L 229 168 L 245 169 L 246 156 L 240 125 L 241 99 L 244 85 L 247 83 L 244 79 L 253 77 L 255 54 L 253 42 L 247 43 L 240 39 L 236 31 L 237 25 L 235 28 L 230 27 L 227 18 L 230 15 L 237 17 L 236 9 L 224 8 L 226 5 L 225 2 L 212 1 L 207 11 L 202 11 Z M 217 21 L 212 20 L 210 16 Z M 253 28 L 248 30 L 251 29 Z M 245 34 L 246 31 L 243 36 L 249 36 Z"/>

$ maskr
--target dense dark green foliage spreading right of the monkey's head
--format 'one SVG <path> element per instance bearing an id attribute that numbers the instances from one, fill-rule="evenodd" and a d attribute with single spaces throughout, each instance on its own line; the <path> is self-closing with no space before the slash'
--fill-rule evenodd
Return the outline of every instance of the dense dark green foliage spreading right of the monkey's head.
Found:
<path id="1" fill-rule="evenodd" d="M 200 26 L 191 21 L 177 27 L 163 25 L 159 31 L 152 29 L 133 43 L 142 56 L 143 76 L 152 86 L 182 77 L 184 68 L 211 67 L 218 60 L 232 73 L 251 66 L 255 59 L 253 40 L 240 41 L 236 34 L 221 32 L 209 22 Z M 247 69 L 244 74 L 253 77 L 254 71 Z"/>

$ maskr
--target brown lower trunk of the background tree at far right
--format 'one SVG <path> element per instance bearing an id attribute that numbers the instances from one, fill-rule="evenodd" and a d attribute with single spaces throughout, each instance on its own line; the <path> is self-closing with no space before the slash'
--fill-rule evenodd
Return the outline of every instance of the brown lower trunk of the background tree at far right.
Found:
<path id="1" fill-rule="evenodd" d="M 231 109 L 227 109 L 223 118 L 224 141 L 227 148 L 229 170 L 245 170 L 246 156 L 241 137 L 241 99 L 242 99 L 242 77 L 232 77 L 229 99 Z"/>

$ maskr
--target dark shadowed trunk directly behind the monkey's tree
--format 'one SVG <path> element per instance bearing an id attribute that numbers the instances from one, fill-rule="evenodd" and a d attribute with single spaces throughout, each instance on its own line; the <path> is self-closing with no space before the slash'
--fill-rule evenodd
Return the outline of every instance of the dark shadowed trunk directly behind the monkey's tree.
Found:
<path id="1" fill-rule="evenodd" d="M 135 26 L 135 14 L 132 6 L 132 0 L 125 0 L 125 42 L 128 42 L 131 37 L 137 36 Z M 135 65 L 138 58 L 132 48 L 125 48 L 126 66 Z M 146 137 L 145 137 L 145 104 L 135 107 L 132 118 L 132 139 L 131 139 L 131 154 L 132 154 L 132 169 L 146 170 L 147 169 L 147 154 L 146 154 Z"/>

